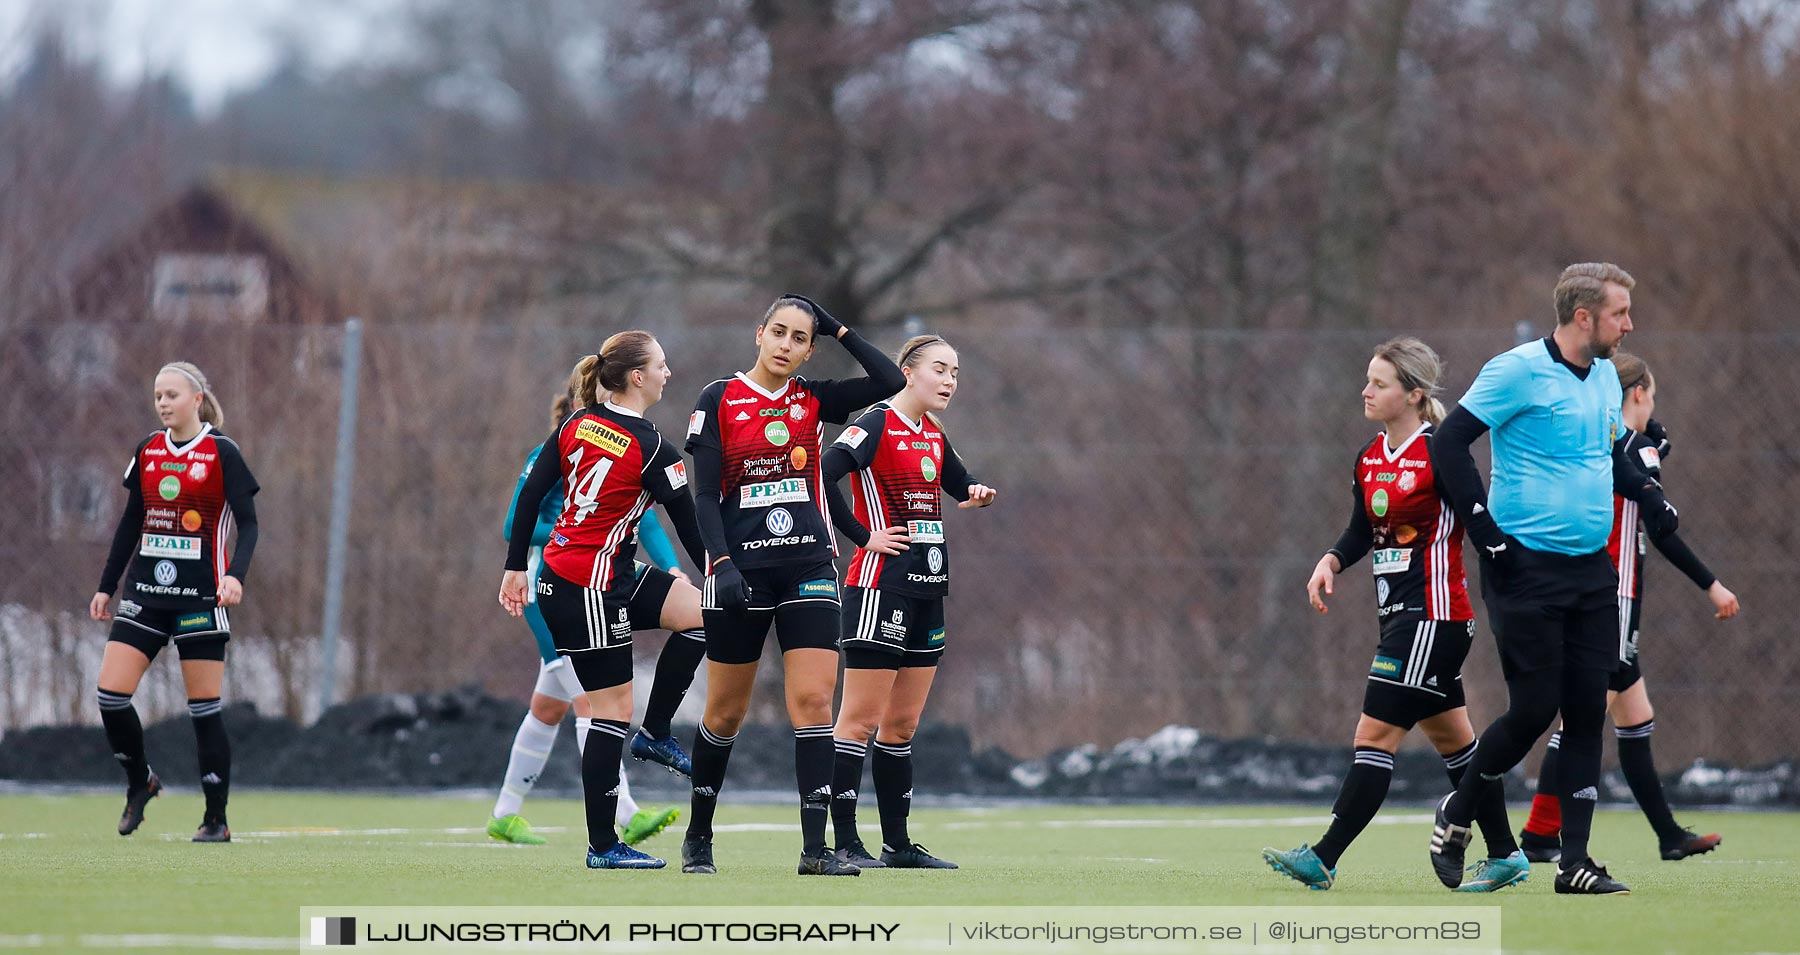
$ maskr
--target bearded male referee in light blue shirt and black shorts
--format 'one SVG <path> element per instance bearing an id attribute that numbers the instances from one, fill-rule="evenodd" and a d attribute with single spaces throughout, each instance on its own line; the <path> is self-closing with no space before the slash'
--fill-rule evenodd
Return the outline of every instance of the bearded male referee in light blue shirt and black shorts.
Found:
<path id="1" fill-rule="evenodd" d="M 1474 808 L 1562 712 L 1561 894 L 1615 896 L 1629 888 L 1588 856 L 1600 784 L 1607 676 L 1618 667 L 1618 572 L 1606 554 L 1615 489 L 1672 529 L 1674 509 L 1642 471 L 1615 469 L 1618 372 L 1611 356 L 1631 331 L 1625 270 L 1571 264 L 1553 293 L 1557 329 L 1494 356 L 1431 441 L 1431 460 L 1481 558 L 1507 712 L 1476 748 L 1454 793 L 1438 804 L 1431 865 L 1462 883 Z M 1492 432 L 1492 493 L 1469 446 Z M 1656 531 L 1652 531 L 1656 532 Z"/>

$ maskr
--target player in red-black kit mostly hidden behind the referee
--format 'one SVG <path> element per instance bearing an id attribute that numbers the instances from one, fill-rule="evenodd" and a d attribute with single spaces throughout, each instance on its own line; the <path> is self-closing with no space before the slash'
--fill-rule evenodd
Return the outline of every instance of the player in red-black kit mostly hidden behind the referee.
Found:
<path id="1" fill-rule="evenodd" d="M 1618 383 L 1625 392 L 1625 433 L 1618 435 L 1618 459 L 1642 469 L 1647 480 L 1661 486 L 1663 460 L 1669 457 L 1669 435 L 1651 421 L 1656 410 L 1656 379 L 1649 365 L 1636 354 L 1615 354 Z M 1616 464 L 1615 464 L 1616 466 Z M 1665 860 L 1685 860 L 1710 852 L 1719 845 L 1719 835 L 1699 835 L 1683 829 L 1669 811 L 1663 782 L 1656 777 L 1656 759 L 1651 755 L 1651 730 L 1656 728 L 1656 710 L 1643 685 L 1638 665 L 1638 620 L 1643 613 L 1643 558 L 1645 538 L 1656 545 L 1669 563 L 1681 568 L 1694 586 L 1712 599 L 1714 615 L 1721 620 L 1737 615 L 1737 595 L 1726 590 L 1719 577 L 1688 549 L 1676 531 L 1649 536 L 1640 523 L 1636 502 L 1613 495 L 1613 538 L 1606 541 L 1618 568 L 1618 669 L 1607 685 L 1606 709 L 1613 716 L 1613 734 L 1618 737 L 1618 768 L 1631 786 L 1633 799 L 1656 831 L 1658 851 Z M 1532 817 L 1519 833 L 1525 854 L 1532 861 L 1559 861 L 1562 858 L 1562 800 L 1557 799 L 1557 755 L 1561 732 L 1550 736 L 1550 748 L 1537 770 L 1537 797 L 1532 799 Z"/>

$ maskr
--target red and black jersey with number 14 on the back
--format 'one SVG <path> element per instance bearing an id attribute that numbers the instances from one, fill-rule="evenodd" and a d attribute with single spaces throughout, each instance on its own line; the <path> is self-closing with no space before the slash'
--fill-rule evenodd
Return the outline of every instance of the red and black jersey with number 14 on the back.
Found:
<path id="1" fill-rule="evenodd" d="M 688 500 L 688 466 L 680 453 L 643 415 L 607 403 L 569 415 L 538 460 L 549 455 L 556 455 L 563 478 L 563 504 L 544 545 L 544 563 L 556 576 L 592 590 L 630 583 L 637 520 L 653 502 Z M 536 511 L 520 507 L 527 518 Z"/>

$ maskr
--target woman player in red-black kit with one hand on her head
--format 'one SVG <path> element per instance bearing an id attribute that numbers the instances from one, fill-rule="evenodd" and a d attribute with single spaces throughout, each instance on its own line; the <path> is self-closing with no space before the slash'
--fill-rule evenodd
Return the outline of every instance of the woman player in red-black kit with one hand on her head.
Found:
<path id="1" fill-rule="evenodd" d="M 848 381 L 797 376 L 814 338 L 837 338 L 869 372 Z M 824 845 L 832 802 L 832 692 L 837 689 L 837 568 L 819 473 L 821 423 L 905 387 L 900 369 L 810 299 L 783 295 L 756 327 L 756 365 L 713 381 L 688 419 L 706 577 L 706 716 L 693 745 L 693 815 L 682 872 L 716 872 L 713 809 L 756 683 L 769 626 L 781 644 L 803 876 L 855 876 Z"/>

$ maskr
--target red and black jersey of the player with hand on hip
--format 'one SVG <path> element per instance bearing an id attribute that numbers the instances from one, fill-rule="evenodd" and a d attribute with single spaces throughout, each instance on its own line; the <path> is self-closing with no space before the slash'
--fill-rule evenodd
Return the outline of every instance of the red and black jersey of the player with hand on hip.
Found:
<path id="1" fill-rule="evenodd" d="M 967 500 L 972 480 L 943 430 L 931 415 L 911 421 L 882 403 L 837 435 L 832 453 L 837 451 L 846 451 L 853 462 L 850 500 L 857 522 L 864 529 L 905 525 L 911 540 L 896 556 L 857 549 L 844 585 L 913 597 L 949 594 L 950 550 L 938 491 Z M 835 473 L 830 469 L 826 480 Z"/>

